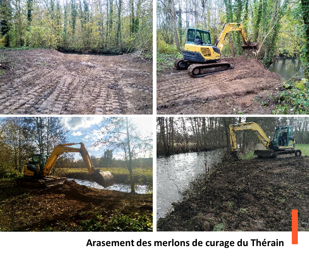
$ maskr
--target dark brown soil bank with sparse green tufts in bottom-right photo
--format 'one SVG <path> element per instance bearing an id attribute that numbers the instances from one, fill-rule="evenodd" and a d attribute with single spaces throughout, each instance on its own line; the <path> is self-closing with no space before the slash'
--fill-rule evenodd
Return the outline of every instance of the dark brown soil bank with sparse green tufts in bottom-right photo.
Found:
<path id="1" fill-rule="evenodd" d="M 309 157 L 218 164 L 157 231 L 309 231 Z M 194 188 L 193 188 L 194 187 Z"/>

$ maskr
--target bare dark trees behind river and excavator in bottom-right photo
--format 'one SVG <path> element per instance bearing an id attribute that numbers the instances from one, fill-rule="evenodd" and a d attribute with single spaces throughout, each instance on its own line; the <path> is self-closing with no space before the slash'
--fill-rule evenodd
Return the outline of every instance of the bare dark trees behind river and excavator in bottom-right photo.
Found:
<path id="1" fill-rule="evenodd" d="M 218 148 L 230 150 L 229 125 L 256 122 L 269 136 L 275 127 L 294 126 L 297 144 L 309 144 L 309 118 L 289 116 L 157 117 L 157 156 L 199 152 Z M 240 152 L 248 153 L 260 143 L 251 130 L 237 132 Z"/>

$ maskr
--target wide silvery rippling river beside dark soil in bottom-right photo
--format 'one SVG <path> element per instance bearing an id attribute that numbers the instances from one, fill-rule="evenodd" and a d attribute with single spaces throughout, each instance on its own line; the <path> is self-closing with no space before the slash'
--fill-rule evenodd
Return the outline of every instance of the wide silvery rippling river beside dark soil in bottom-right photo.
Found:
<path id="1" fill-rule="evenodd" d="M 218 163 L 223 150 L 186 153 L 157 158 L 157 220 L 166 215 L 172 202 L 181 200 L 185 187 L 194 178 L 205 172 L 212 163 Z"/>

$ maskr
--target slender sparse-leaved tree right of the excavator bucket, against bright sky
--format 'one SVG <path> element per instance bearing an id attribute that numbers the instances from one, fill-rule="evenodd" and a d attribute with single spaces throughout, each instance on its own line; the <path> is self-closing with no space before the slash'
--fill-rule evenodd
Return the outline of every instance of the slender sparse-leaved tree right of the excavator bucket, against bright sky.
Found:
<path id="1" fill-rule="evenodd" d="M 129 171 L 131 193 L 135 193 L 132 160 L 149 150 L 152 135 L 143 136 L 130 117 L 105 118 L 98 127 L 103 137 L 96 145 L 107 146 L 110 150 L 121 153 Z"/>

